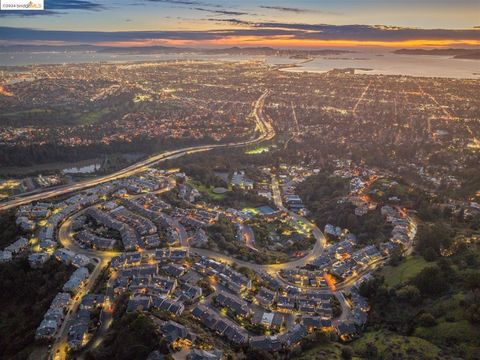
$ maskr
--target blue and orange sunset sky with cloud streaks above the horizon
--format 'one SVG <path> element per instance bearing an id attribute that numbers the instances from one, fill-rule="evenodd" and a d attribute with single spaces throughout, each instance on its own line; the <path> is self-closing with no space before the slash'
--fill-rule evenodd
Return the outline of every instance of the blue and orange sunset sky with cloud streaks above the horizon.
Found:
<path id="1" fill-rule="evenodd" d="M 480 46 L 480 0 L 45 0 L 0 11 L 0 44 Z"/>

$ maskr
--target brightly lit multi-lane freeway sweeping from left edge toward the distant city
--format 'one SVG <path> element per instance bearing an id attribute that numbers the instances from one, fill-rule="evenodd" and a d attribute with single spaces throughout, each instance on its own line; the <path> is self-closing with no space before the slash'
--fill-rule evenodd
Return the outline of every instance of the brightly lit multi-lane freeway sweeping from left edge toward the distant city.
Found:
<path id="1" fill-rule="evenodd" d="M 72 185 L 60 186 L 55 189 L 49 189 L 46 191 L 42 191 L 39 193 L 30 194 L 26 196 L 19 195 L 13 200 L 3 202 L 0 205 L 0 211 L 12 209 L 20 205 L 29 204 L 32 201 L 45 200 L 51 197 L 68 194 L 74 191 L 84 190 L 89 187 L 93 187 L 109 181 L 129 177 L 129 176 L 141 173 L 147 170 L 148 167 L 156 165 L 162 161 L 176 159 L 185 155 L 195 154 L 203 151 L 210 151 L 212 149 L 243 147 L 247 145 L 256 144 L 262 141 L 270 140 L 275 136 L 275 129 L 273 128 L 273 125 L 266 120 L 265 115 L 263 114 L 263 106 L 265 103 L 265 99 L 268 95 L 269 95 L 269 91 L 267 90 L 253 104 L 251 117 L 255 120 L 256 129 L 259 130 L 260 132 L 260 135 L 256 138 L 240 141 L 240 142 L 228 143 L 228 144 L 191 146 L 183 149 L 166 151 L 161 154 L 151 156 L 145 160 L 137 162 L 133 165 L 130 165 L 110 175 L 106 175 L 106 176 L 102 176 L 102 177 L 98 177 L 90 180 L 85 180 Z"/>

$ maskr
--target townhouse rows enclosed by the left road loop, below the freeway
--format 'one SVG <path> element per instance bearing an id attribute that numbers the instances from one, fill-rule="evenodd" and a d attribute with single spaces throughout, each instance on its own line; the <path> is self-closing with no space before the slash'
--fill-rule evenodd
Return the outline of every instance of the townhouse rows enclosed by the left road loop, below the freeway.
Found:
<path id="1" fill-rule="evenodd" d="M 166 186 L 170 187 L 171 182 Z M 200 230 L 214 224 L 220 214 L 218 210 L 202 206 L 172 209 L 171 205 L 151 193 L 128 196 L 128 193 L 119 194 L 117 191 L 113 196 L 115 200 L 90 207 L 76 218 L 73 229 L 78 231 L 78 242 L 101 250 L 123 248 L 126 251 L 159 247 L 162 241 L 168 246 L 186 246 L 188 240 L 194 237 L 205 242 L 202 237 L 206 235 Z M 90 219 L 95 224 L 117 231 L 119 238 L 112 239 L 89 229 L 86 224 Z M 163 235 L 162 238 L 160 235 Z"/>

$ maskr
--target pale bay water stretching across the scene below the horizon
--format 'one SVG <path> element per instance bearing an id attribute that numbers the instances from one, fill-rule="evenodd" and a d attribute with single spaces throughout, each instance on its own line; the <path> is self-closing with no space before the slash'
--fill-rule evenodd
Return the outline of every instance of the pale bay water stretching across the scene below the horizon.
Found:
<path id="1" fill-rule="evenodd" d="M 353 55 L 353 54 L 352 54 Z M 82 65 L 82 64 L 128 64 L 142 62 L 174 61 L 264 61 L 272 69 L 286 72 L 325 73 L 333 69 L 371 69 L 370 75 L 399 75 L 413 77 L 440 77 L 479 79 L 477 62 L 472 59 L 454 59 L 449 56 L 425 54 L 427 61 L 417 61 L 418 56 L 395 54 L 395 52 L 356 53 L 354 56 L 323 55 L 204 55 L 204 54 L 144 54 L 118 55 L 107 53 L 2 53 L 0 70 L 28 71 L 30 66 Z M 413 66 L 415 65 L 415 66 Z"/>

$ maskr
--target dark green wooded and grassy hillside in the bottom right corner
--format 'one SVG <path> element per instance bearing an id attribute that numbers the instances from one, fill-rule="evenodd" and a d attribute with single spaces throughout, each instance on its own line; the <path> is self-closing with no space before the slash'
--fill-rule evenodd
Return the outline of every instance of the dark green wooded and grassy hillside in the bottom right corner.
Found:
<path id="1" fill-rule="evenodd" d="M 479 267 L 480 247 L 472 244 L 437 261 L 416 256 L 382 269 L 360 289 L 372 309 L 368 332 L 352 344 L 355 354 L 480 359 Z"/>

